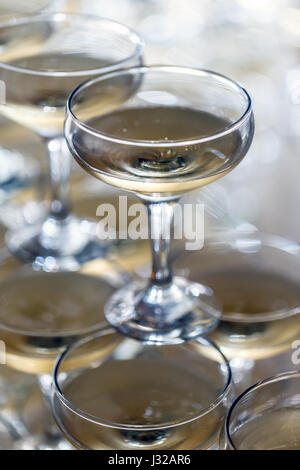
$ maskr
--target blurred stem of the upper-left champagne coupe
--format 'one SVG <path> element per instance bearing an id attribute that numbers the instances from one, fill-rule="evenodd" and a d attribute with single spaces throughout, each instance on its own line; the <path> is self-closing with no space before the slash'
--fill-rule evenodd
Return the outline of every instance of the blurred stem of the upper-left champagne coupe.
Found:
<path id="1" fill-rule="evenodd" d="M 71 156 L 63 137 L 47 139 L 49 155 L 51 202 L 49 217 L 58 221 L 70 214 L 69 176 Z"/>

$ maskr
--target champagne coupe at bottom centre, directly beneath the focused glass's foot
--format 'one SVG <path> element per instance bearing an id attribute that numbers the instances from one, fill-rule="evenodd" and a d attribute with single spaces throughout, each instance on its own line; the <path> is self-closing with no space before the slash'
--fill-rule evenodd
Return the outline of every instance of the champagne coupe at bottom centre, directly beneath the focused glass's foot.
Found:
<path id="1" fill-rule="evenodd" d="M 147 344 L 104 329 L 58 358 L 52 406 L 79 449 L 215 449 L 231 394 L 227 360 L 209 340 Z"/>

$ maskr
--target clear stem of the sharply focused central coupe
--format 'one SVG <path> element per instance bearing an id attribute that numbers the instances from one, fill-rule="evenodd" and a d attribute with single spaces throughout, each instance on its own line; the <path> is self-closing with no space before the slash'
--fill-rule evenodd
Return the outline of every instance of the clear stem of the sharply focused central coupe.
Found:
<path id="1" fill-rule="evenodd" d="M 152 285 L 167 286 L 172 282 L 170 240 L 175 204 L 176 201 L 146 202 L 152 251 Z"/>

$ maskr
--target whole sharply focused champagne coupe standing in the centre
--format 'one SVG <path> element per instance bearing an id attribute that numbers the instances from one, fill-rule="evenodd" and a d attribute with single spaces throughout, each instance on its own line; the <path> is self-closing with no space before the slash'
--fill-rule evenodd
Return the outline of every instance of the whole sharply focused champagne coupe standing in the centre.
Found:
<path id="1" fill-rule="evenodd" d="M 110 299 L 105 314 L 117 330 L 178 342 L 214 328 L 220 312 L 211 290 L 172 277 L 172 216 L 183 193 L 240 162 L 253 130 L 247 92 L 205 70 L 137 67 L 103 75 L 71 94 L 65 135 L 75 159 L 96 178 L 136 193 L 149 216 L 151 279 Z"/>

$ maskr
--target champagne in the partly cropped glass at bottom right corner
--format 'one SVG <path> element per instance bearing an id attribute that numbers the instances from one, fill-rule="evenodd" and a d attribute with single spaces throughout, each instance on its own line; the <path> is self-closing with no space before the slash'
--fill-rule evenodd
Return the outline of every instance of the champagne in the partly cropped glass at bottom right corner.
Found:
<path id="1" fill-rule="evenodd" d="M 300 408 L 256 416 L 239 426 L 232 440 L 239 450 L 300 450 Z"/>

